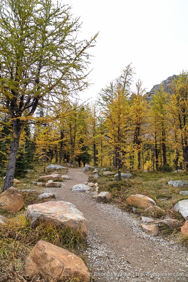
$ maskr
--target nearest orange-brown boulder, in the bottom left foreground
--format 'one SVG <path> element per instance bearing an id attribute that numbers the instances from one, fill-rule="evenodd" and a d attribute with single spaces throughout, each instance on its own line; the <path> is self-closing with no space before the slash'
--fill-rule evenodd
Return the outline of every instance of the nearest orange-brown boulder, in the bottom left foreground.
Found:
<path id="1" fill-rule="evenodd" d="M 35 277 L 38 281 L 40 274 L 50 281 L 70 281 L 72 277 L 82 282 L 90 281 L 88 268 L 80 257 L 42 240 L 31 250 L 25 266 L 25 275 L 30 279 Z"/>

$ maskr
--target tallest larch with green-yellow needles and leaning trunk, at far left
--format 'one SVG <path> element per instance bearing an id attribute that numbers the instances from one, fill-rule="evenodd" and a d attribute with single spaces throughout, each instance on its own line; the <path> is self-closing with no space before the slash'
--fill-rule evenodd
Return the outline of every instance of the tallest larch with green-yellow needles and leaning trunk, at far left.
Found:
<path id="1" fill-rule="evenodd" d="M 72 93 L 87 87 L 87 49 L 97 35 L 79 41 L 80 27 L 70 7 L 58 2 L 0 4 L 0 111 L 9 114 L 13 132 L 3 191 L 13 185 L 20 134 L 37 106 L 57 100 L 59 87 Z"/>

